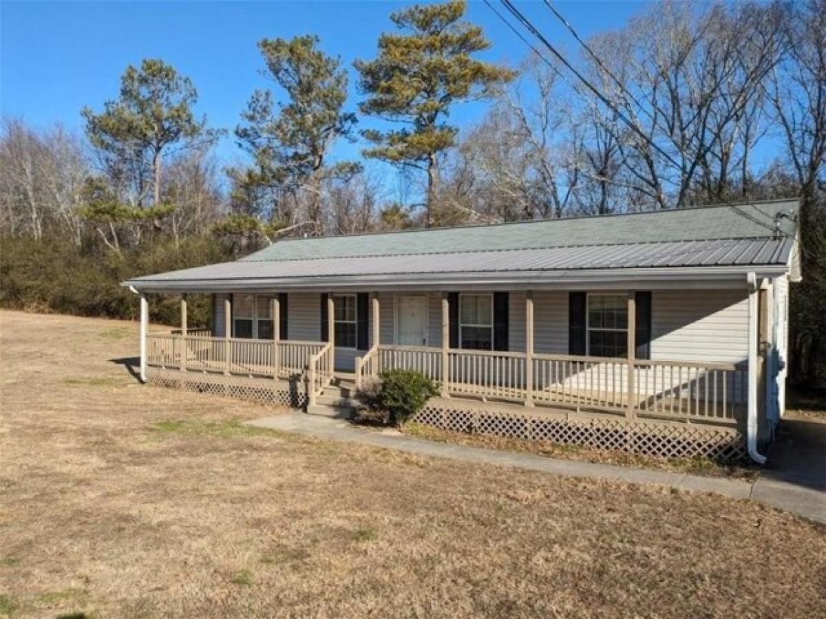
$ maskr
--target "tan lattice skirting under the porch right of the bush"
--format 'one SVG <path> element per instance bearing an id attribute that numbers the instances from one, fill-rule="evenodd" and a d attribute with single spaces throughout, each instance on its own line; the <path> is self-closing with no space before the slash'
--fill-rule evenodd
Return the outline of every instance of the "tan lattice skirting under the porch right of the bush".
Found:
<path id="1" fill-rule="evenodd" d="M 740 461 L 746 457 L 742 432 L 684 423 L 653 423 L 624 418 L 574 420 L 541 414 L 485 409 L 444 399 L 430 400 L 415 421 L 452 430 L 582 445 L 594 449 L 626 451 L 644 456 Z"/>

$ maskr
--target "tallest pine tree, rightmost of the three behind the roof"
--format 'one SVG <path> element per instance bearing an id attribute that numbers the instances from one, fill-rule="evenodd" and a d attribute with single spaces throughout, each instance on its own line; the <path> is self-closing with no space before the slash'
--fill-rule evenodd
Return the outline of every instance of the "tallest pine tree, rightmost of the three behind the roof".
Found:
<path id="1" fill-rule="evenodd" d="M 490 43 L 482 28 L 461 21 L 463 0 L 415 5 L 390 17 L 402 33 L 385 32 L 376 59 L 357 60 L 364 114 L 404 123 L 397 130 L 366 130 L 374 144 L 365 156 L 427 172 L 427 224 L 440 223 L 438 156 L 453 146 L 457 127 L 445 122 L 455 102 L 491 96 L 514 73 L 473 59 Z"/>

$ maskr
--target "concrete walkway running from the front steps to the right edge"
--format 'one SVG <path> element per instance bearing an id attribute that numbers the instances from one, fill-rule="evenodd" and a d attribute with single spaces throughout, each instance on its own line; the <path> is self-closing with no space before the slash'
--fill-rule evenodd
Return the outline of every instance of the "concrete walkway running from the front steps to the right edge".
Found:
<path id="1" fill-rule="evenodd" d="M 764 482 L 761 479 L 752 484 L 744 480 L 703 477 L 664 470 L 635 469 L 628 466 L 605 465 L 594 462 L 560 460 L 514 451 L 428 441 L 421 438 L 406 437 L 392 431 L 373 432 L 358 428 L 343 419 L 305 413 L 282 413 L 274 417 L 254 419 L 247 423 L 258 428 L 299 432 L 332 441 L 384 447 L 421 456 L 515 466 L 521 469 L 566 475 L 567 477 L 665 485 L 684 490 L 715 492 L 733 499 L 757 499 L 772 507 L 786 509 L 818 522 L 826 522 L 826 493 L 818 489 L 798 488 L 788 482 L 776 480 Z"/>

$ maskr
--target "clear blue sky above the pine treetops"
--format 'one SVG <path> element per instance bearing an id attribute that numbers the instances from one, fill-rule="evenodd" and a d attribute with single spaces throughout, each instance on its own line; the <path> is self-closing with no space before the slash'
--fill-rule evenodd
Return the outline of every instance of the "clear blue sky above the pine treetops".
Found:
<path id="1" fill-rule="evenodd" d="M 349 107 L 358 92 L 352 62 L 376 52 L 378 35 L 392 28 L 389 15 L 412 2 L 6 2 L 0 1 L 0 112 L 35 125 L 55 121 L 81 130 L 83 106 L 100 109 L 117 95 L 128 64 L 158 57 L 192 79 L 197 111 L 230 135 L 218 146 L 226 163 L 239 160 L 231 130 L 249 95 L 266 87 L 256 42 L 306 33 L 320 36 L 351 71 Z M 640 2 L 556 2 L 582 35 L 619 26 Z M 551 39 L 575 50 L 571 36 L 539 2 L 527 12 Z M 517 64 L 525 44 L 483 2 L 469 2 L 468 19 L 493 44 L 486 59 Z M 457 106 L 452 119 L 468 125 L 486 103 Z M 362 119 L 360 127 L 373 123 Z M 374 124 L 374 123 L 373 123 Z M 363 144 L 342 143 L 336 158 L 355 157 Z"/>

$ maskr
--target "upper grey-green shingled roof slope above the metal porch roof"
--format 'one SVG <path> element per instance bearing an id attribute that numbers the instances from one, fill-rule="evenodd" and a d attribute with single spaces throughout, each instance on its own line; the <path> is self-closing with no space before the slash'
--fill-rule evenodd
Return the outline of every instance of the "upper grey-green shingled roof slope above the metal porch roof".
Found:
<path id="1" fill-rule="evenodd" d="M 794 214 L 797 209 L 797 201 L 772 201 L 510 224 L 283 239 L 242 258 L 242 261 L 748 239 L 771 236 L 776 216 L 781 212 Z M 777 221 L 782 232 L 793 234 L 791 220 Z"/>

